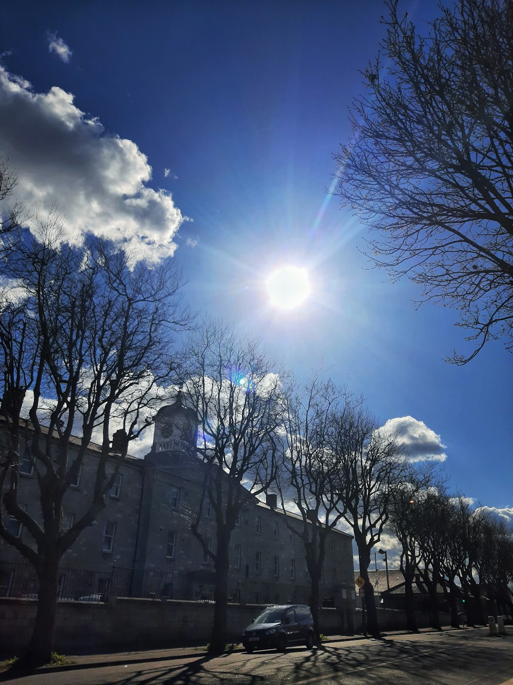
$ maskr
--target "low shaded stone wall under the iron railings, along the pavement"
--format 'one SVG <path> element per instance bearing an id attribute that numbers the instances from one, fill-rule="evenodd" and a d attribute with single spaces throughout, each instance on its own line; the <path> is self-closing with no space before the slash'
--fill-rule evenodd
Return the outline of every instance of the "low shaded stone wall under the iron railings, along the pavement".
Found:
<path id="1" fill-rule="evenodd" d="M 229 605 L 228 641 L 240 643 L 242 631 L 260 610 L 262 606 Z M 353 613 L 349 603 L 344 609 L 321 610 L 321 632 L 345 632 Z M 0 599 L 3 654 L 23 650 L 35 617 L 36 601 Z M 73 654 L 206 645 L 213 620 L 214 604 L 210 602 L 125 597 L 111 598 L 106 604 L 63 602 L 59 604 L 55 651 Z"/>

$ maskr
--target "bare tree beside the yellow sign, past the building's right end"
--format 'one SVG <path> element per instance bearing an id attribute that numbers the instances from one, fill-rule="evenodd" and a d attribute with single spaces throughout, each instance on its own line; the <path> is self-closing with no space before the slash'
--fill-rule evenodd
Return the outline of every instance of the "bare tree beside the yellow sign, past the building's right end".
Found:
<path id="1" fill-rule="evenodd" d="M 337 497 L 344 507 L 342 519 L 351 527 L 364 580 L 368 632 L 379 636 L 374 588 L 368 577 L 371 550 L 379 543 L 390 516 L 393 493 L 408 482 L 409 462 L 397 433 L 379 427 L 375 417 L 360 406 L 337 417 L 334 453 L 339 470 Z"/>

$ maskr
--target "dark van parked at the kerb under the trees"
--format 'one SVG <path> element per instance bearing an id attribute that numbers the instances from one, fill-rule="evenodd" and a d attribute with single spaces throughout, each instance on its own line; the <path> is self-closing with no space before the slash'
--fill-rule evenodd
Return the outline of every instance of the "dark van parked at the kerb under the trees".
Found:
<path id="1" fill-rule="evenodd" d="M 246 651 L 272 649 L 285 651 L 288 645 L 303 644 L 312 649 L 314 619 L 305 604 L 269 606 L 242 633 Z"/>

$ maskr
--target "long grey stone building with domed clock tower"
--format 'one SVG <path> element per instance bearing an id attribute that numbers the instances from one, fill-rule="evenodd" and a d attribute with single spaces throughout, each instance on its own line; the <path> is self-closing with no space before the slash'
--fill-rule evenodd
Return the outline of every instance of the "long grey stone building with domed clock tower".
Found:
<path id="1" fill-rule="evenodd" d="M 201 506 L 205 466 L 197 456 L 197 417 L 177 401 L 155 417 L 153 446 L 144 460 L 127 456 L 107 506 L 62 558 L 61 596 L 111 593 L 211 600 L 214 568 L 190 524 Z M 64 525 L 85 510 L 95 482 L 99 447 L 87 459 L 64 500 Z M 18 501 L 38 515 L 37 483 L 29 458 L 20 466 Z M 30 543 L 14 520 L 11 531 Z M 242 509 L 232 532 L 229 593 L 234 601 L 308 601 L 308 571 L 301 517 L 284 514 L 276 495 L 256 497 Z M 215 545 L 216 527 L 205 501 L 201 532 Z M 0 539 L 0 595 L 15 593 L 14 573 L 23 558 Z M 327 541 L 321 596 L 326 606 L 354 606 L 352 538 L 333 531 Z M 77 573 L 82 580 L 77 584 Z M 71 580 L 73 577 L 73 582 Z M 25 591 L 27 587 L 24 586 Z"/>

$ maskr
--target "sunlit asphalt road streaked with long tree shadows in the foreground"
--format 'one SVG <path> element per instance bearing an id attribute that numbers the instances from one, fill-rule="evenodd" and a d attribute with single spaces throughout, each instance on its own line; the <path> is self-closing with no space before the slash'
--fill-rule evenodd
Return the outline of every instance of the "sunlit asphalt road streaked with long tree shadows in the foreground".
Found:
<path id="1" fill-rule="evenodd" d="M 511 632 L 511 631 L 510 631 Z M 4 675 L 5 677 L 5 675 Z M 234 652 L 218 658 L 138 661 L 63 667 L 17 678 L 16 685 L 513 685 L 513 635 L 483 629 L 394 635 L 383 640 L 328 643 L 307 651 Z"/>

